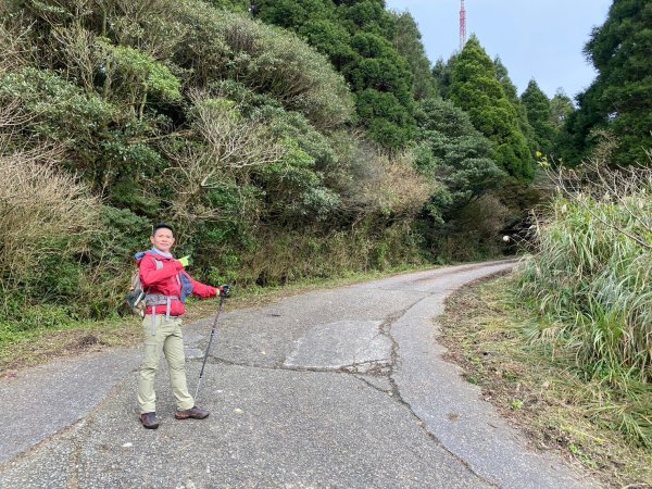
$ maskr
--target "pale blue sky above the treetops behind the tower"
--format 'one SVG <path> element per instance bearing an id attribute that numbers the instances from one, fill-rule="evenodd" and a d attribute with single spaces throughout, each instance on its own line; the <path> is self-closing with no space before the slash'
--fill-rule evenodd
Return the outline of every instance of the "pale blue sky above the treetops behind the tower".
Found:
<path id="1" fill-rule="evenodd" d="M 587 88 L 595 72 L 581 51 L 593 26 L 606 20 L 611 0 L 466 0 L 466 37 L 475 34 L 487 53 L 500 55 L 518 93 L 535 78 L 552 97 Z M 460 0 L 386 0 L 412 13 L 432 64 L 460 46 Z"/>

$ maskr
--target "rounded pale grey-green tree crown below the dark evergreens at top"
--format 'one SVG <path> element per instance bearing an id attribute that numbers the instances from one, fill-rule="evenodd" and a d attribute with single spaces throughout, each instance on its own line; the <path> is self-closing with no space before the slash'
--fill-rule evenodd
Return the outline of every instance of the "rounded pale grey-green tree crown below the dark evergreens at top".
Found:
<path id="1" fill-rule="evenodd" d="M 193 84 L 237 79 L 301 112 L 316 127 L 350 120 L 353 106 L 343 78 L 294 35 L 193 2 L 174 2 L 171 9 L 178 20 L 195 26 L 174 58 L 192 71 Z"/>

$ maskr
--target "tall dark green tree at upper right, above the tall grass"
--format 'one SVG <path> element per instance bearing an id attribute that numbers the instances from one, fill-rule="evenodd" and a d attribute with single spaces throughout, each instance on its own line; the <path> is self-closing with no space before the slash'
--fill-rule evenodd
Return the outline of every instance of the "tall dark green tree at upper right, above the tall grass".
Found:
<path id="1" fill-rule="evenodd" d="M 577 96 L 579 110 L 568 120 L 567 163 L 579 163 L 595 141 L 591 130 L 606 128 L 618 140 L 612 162 L 649 163 L 652 149 L 652 2 L 614 0 L 606 22 L 595 27 L 585 54 L 598 71 Z"/>

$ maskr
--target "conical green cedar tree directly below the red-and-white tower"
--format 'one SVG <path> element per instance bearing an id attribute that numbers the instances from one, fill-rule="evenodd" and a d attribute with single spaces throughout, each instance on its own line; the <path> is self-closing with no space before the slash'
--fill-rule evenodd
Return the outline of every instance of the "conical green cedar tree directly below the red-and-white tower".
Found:
<path id="1" fill-rule="evenodd" d="M 468 112 L 473 125 L 493 142 L 494 161 L 518 180 L 530 181 L 534 162 L 516 109 L 497 77 L 496 65 L 475 36 L 455 62 L 450 99 Z"/>

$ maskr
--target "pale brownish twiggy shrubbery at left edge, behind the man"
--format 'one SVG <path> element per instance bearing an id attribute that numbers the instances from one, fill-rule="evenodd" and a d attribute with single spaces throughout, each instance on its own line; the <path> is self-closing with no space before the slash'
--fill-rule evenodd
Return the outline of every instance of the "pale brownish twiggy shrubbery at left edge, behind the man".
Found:
<path id="1" fill-rule="evenodd" d="M 92 315 L 84 299 L 101 285 L 89 261 L 100 202 L 55 170 L 58 153 L 41 148 L 0 156 L 1 316 L 21 328 Z M 78 302 L 68 303 L 71 297 Z"/>

